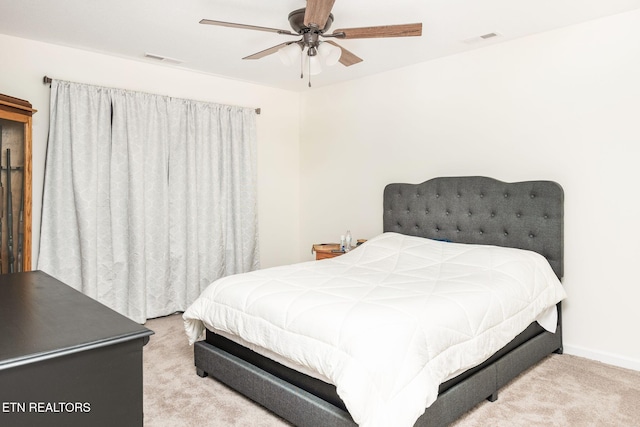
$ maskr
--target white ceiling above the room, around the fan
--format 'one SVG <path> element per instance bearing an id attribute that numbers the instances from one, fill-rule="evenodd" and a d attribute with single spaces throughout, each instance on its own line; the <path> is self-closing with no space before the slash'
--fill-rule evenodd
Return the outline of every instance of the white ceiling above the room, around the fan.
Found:
<path id="1" fill-rule="evenodd" d="M 285 67 L 277 55 L 241 59 L 295 37 L 199 21 L 290 30 L 289 12 L 304 6 L 304 0 L 0 0 L 0 33 L 298 91 L 308 90 L 299 67 Z M 422 22 L 422 37 L 339 40 L 364 61 L 326 68 L 312 84 L 322 87 L 638 8 L 640 0 L 337 0 L 332 29 Z M 491 32 L 501 36 L 468 41 Z M 182 62 L 158 62 L 145 53 Z"/>

